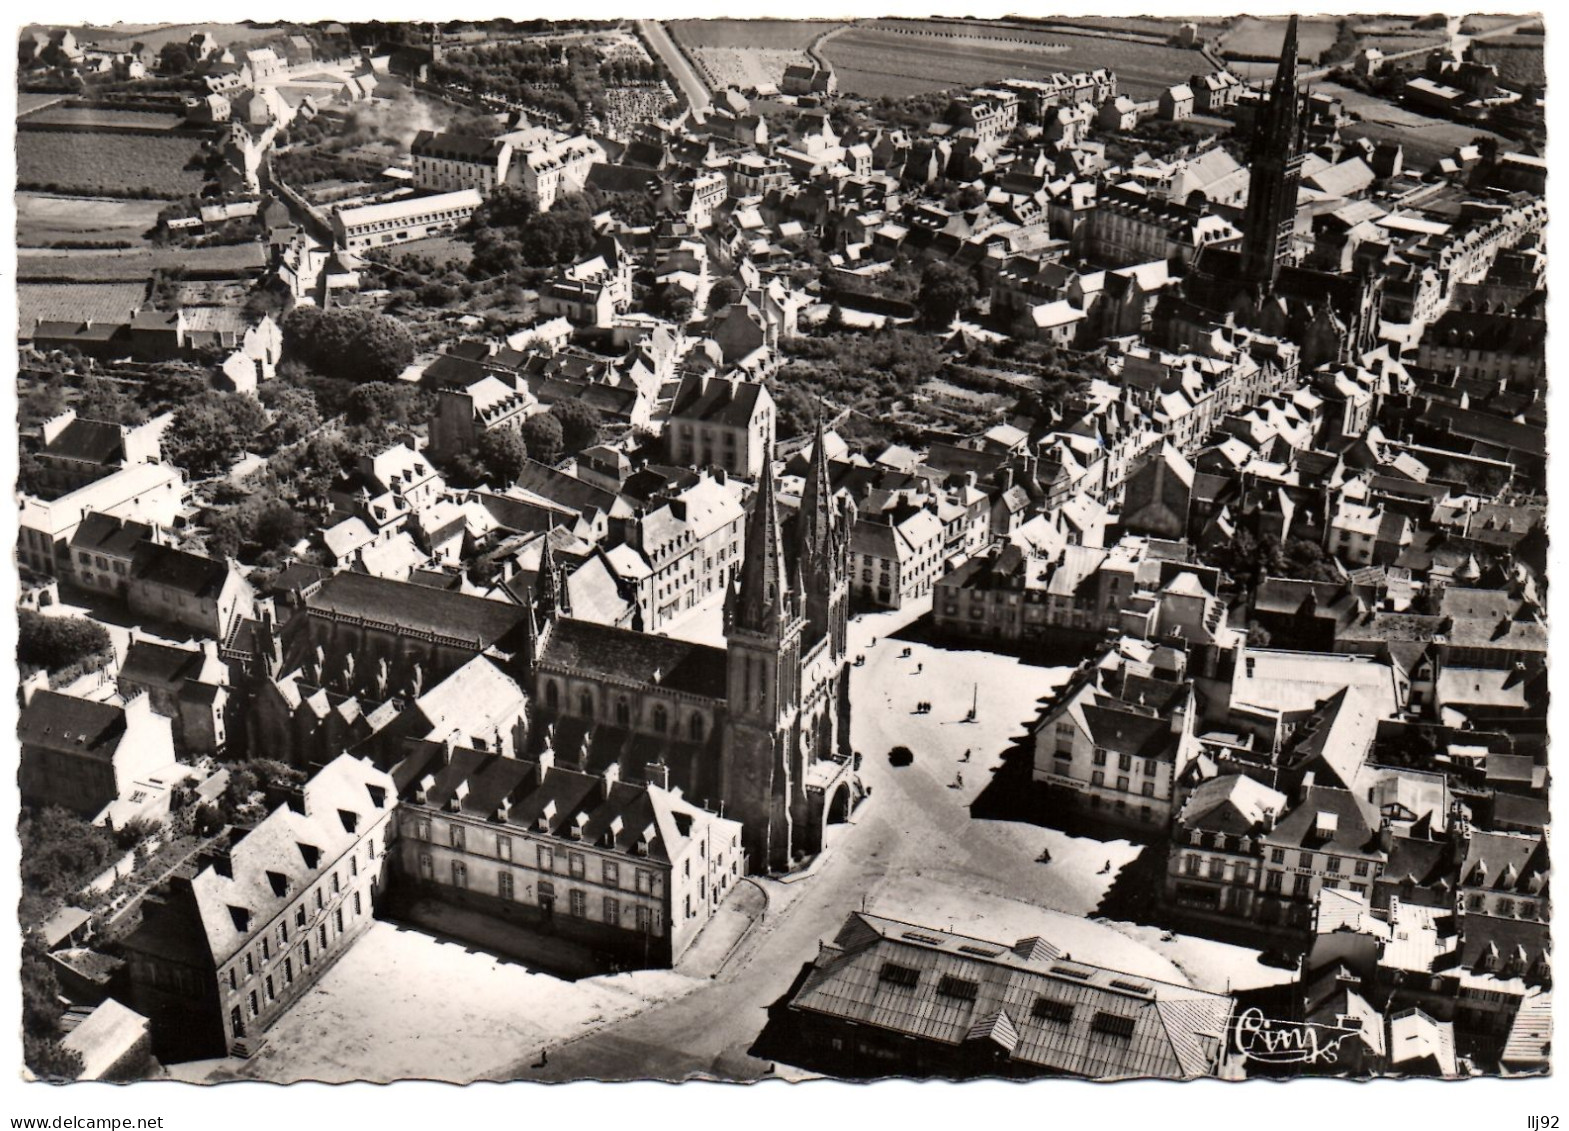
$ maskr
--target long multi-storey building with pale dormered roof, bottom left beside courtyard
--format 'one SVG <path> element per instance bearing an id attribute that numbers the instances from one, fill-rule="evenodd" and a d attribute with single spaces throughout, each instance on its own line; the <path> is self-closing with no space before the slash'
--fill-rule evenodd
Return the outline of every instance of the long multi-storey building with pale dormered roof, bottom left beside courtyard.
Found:
<path id="1" fill-rule="evenodd" d="M 353 944 L 388 885 L 395 808 L 388 773 L 340 755 L 149 891 L 121 946 L 160 1060 L 246 1054 Z"/>

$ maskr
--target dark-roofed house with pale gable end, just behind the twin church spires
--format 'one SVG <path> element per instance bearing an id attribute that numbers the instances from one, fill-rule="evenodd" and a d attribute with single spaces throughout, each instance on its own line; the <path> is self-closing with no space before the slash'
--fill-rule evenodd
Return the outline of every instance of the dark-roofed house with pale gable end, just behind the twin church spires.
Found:
<path id="1" fill-rule="evenodd" d="M 761 381 L 687 375 L 665 422 L 667 460 L 756 478 L 774 458 L 775 427 L 774 395 Z"/>

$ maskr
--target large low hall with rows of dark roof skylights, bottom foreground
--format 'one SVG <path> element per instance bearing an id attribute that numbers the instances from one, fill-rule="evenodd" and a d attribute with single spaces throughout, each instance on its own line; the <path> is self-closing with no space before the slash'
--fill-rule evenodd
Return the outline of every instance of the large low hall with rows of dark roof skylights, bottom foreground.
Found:
<path id="1" fill-rule="evenodd" d="M 1221 1065 L 1232 1009 L 1045 938 L 1009 944 L 852 911 L 786 1016 L 803 1064 L 841 1076 L 1197 1079 Z"/>

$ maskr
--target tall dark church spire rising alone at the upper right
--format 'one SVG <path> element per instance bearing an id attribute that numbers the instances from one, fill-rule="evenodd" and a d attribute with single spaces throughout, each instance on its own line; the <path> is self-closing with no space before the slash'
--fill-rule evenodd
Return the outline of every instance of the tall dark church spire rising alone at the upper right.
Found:
<path id="1" fill-rule="evenodd" d="M 1298 96 L 1296 16 L 1285 30 L 1280 66 L 1269 104 L 1254 124 L 1249 151 L 1247 212 L 1243 216 L 1241 275 L 1247 284 L 1274 287 L 1291 254 L 1296 190 L 1302 180 L 1302 107 Z"/>

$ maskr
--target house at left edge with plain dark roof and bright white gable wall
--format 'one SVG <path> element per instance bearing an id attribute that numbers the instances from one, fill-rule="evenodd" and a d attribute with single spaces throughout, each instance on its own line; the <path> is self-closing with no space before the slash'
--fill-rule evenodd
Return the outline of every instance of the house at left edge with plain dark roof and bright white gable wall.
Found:
<path id="1" fill-rule="evenodd" d="M 115 706 L 24 689 L 17 739 L 22 805 L 60 805 L 86 817 L 174 762 L 169 720 L 152 711 L 147 695 Z"/>

